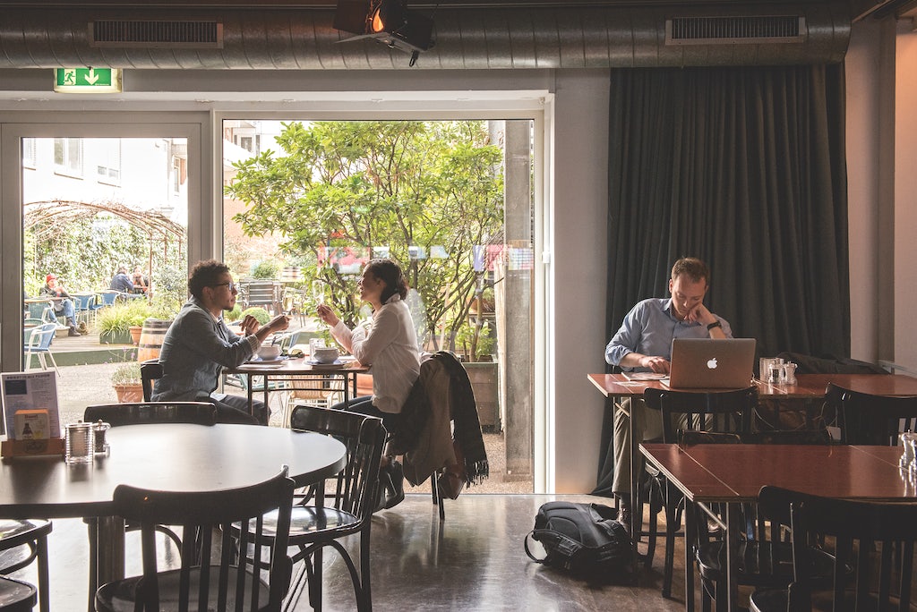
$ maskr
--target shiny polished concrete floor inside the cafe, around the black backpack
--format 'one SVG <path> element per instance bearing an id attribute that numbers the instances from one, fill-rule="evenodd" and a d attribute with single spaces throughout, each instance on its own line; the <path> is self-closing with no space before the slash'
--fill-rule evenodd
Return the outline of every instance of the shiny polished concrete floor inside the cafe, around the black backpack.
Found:
<path id="1" fill-rule="evenodd" d="M 440 522 L 427 495 L 409 495 L 372 521 L 372 600 L 376 610 L 655 610 L 684 609 L 679 540 L 672 599 L 660 595 L 661 557 L 641 567 L 635 584 L 588 585 L 534 563 L 523 541 L 536 511 L 555 496 L 462 495 L 447 500 Z M 607 501 L 595 497 L 563 497 Z M 86 530 L 80 519 L 56 519 L 50 536 L 51 610 L 86 609 Z M 539 545 L 536 543 L 535 547 Z M 349 544 L 356 549 L 356 540 Z M 137 534 L 127 536 L 127 573 L 138 573 Z M 356 554 L 356 552 L 353 552 Z M 326 552 L 323 593 L 329 612 L 356 609 L 344 564 Z M 34 582 L 34 569 L 15 574 Z M 303 597 L 296 610 L 309 610 Z"/>

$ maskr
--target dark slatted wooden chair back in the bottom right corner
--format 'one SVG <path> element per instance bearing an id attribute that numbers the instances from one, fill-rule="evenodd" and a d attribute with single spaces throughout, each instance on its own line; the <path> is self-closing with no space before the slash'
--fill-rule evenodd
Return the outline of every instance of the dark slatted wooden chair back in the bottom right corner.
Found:
<path id="1" fill-rule="evenodd" d="M 818 536 L 834 537 L 834 610 L 855 609 L 854 600 L 857 610 L 909 609 L 917 504 L 834 499 L 764 486 L 758 505 L 768 519 L 791 527 L 794 580 L 788 609 L 812 609 L 812 593 L 822 588 L 812 576 L 811 555 L 817 552 L 809 545 Z M 851 570 L 856 573 L 852 581 Z"/>

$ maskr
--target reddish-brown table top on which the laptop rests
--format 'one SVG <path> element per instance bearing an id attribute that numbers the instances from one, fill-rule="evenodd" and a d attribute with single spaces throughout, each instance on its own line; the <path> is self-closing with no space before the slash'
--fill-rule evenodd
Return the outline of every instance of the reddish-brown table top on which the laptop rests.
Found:
<path id="1" fill-rule="evenodd" d="M 668 388 L 657 380 L 627 380 L 623 374 L 590 374 L 589 380 L 602 395 L 641 396 L 646 388 Z M 757 385 L 758 395 L 762 398 L 815 399 L 824 397 L 828 383 L 862 393 L 873 395 L 911 396 L 917 395 L 917 378 L 900 374 L 800 374 L 795 385 L 771 385 L 754 379 L 749 384 Z M 683 389 L 702 392 L 704 389 Z M 722 389 L 719 389 L 722 390 Z"/>

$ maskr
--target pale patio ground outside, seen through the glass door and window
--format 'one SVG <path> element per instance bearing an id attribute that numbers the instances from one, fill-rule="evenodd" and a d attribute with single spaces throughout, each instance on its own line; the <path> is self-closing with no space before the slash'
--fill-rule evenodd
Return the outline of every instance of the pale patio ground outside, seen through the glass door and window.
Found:
<path id="1" fill-rule="evenodd" d="M 76 422 L 83 418 L 83 410 L 91 404 L 116 403 L 115 389 L 111 386 L 111 377 L 120 364 L 95 364 L 90 366 L 61 367 L 58 388 L 62 389 L 58 398 L 61 410 L 61 424 Z M 242 395 L 241 389 L 226 388 L 227 393 Z M 271 426 L 281 426 L 280 410 L 276 403 L 271 403 Z M 510 480 L 505 475 L 505 446 L 503 433 L 485 433 L 484 445 L 490 463 L 491 476 L 481 485 L 471 486 L 466 493 L 532 493 L 534 486 L 531 478 Z M 419 490 L 429 490 L 426 483 Z"/>

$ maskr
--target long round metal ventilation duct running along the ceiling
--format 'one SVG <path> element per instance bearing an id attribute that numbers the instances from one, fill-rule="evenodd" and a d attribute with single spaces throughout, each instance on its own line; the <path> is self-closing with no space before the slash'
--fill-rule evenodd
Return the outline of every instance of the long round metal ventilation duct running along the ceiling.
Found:
<path id="1" fill-rule="evenodd" d="M 844 58 L 843 3 L 436 10 L 435 46 L 421 69 L 572 69 L 833 63 Z M 422 10 L 422 9 L 417 9 Z M 163 15 L 163 13 L 167 13 Z M 0 69 L 111 66 L 167 69 L 408 70 L 375 41 L 340 43 L 326 9 L 168 11 L 0 9 Z M 705 20 L 705 21 L 704 21 Z M 762 36 L 750 22 L 794 21 L 796 35 Z M 680 32 L 723 31 L 685 44 Z M 715 26 L 715 27 L 711 27 Z M 751 31 L 751 30 L 749 30 Z M 725 44 L 724 44 L 725 43 Z"/>

